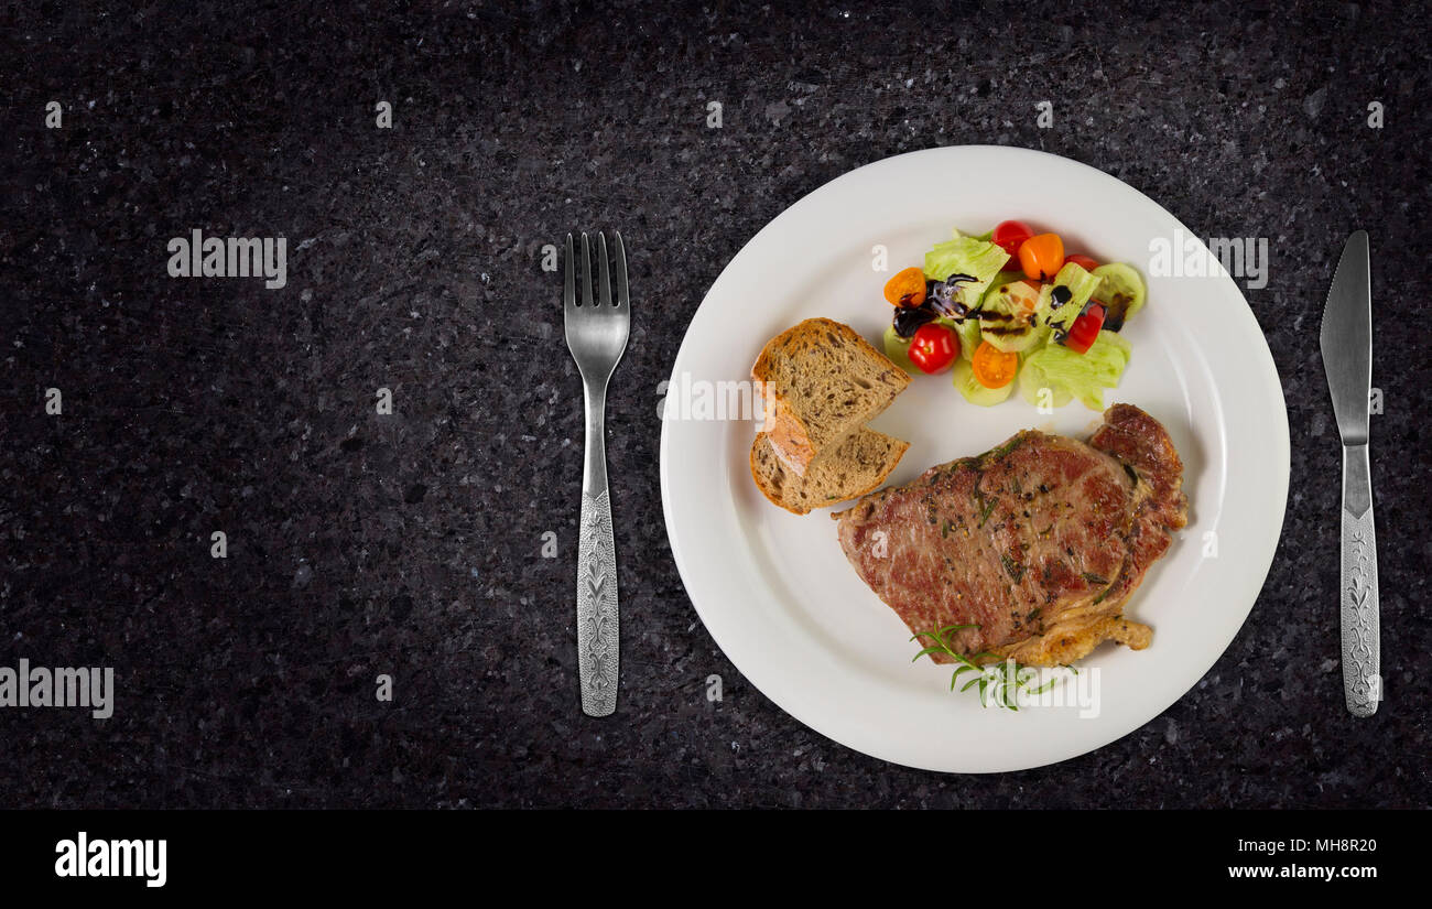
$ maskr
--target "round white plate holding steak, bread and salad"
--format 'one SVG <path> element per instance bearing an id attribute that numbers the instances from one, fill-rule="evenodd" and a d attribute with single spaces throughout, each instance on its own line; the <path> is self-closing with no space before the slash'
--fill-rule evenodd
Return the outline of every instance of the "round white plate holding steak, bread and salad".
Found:
<path id="1" fill-rule="evenodd" d="M 753 422 L 669 417 L 662 427 L 672 553 L 730 661 L 816 731 L 929 770 L 988 773 L 1065 760 L 1179 700 L 1252 610 L 1287 498 L 1283 389 L 1232 278 L 1148 275 L 1153 239 L 1193 233 L 1117 179 L 1025 149 L 901 155 L 786 209 L 706 295 L 676 356 L 670 401 L 680 399 L 682 382 L 695 389 L 749 379 L 762 345 L 811 316 L 846 322 L 879 346 L 891 315 L 881 295 L 889 273 L 919 265 L 952 226 L 978 233 L 1005 218 L 1058 232 L 1070 252 L 1128 262 L 1146 275 L 1148 302 L 1124 329 L 1133 361 L 1106 405 L 1148 411 L 1186 465 L 1189 527 L 1128 606 L 1153 626 L 1153 644 L 1137 653 L 1104 644 L 1083 663 L 1098 669 L 1090 674 L 1098 677 L 1097 716 L 1074 707 L 1012 713 L 984 707 L 972 690 L 951 693 L 948 669 L 911 663 L 918 647 L 845 561 L 829 512 L 796 517 L 756 490 L 748 467 Z M 888 272 L 874 268 L 876 246 L 888 251 Z M 872 425 L 911 442 L 889 478 L 901 484 L 1021 428 L 1084 438 L 1097 422 L 1077 401 L 1053 415 L 1018 394 L 974 407 L 944 375 L 916 376 Z"/>

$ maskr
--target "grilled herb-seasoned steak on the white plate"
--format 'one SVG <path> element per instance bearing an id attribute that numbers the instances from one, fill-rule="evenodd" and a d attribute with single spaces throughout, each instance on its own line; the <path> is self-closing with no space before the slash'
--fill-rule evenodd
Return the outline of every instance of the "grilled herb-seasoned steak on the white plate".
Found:
<path id="1" fill-rule="evenodd" d="M 1181 487 L 1167 431 L 1116 404 L 1088 442 L 1022 431 L 833 517 L 856 574 L 911 631 L 974 624 L 947 637 L 955 651 L 1057 666 L 1104 640 L 1148 646 L 1124 604 L 1187 522 Z"/>

